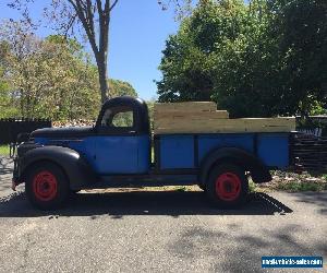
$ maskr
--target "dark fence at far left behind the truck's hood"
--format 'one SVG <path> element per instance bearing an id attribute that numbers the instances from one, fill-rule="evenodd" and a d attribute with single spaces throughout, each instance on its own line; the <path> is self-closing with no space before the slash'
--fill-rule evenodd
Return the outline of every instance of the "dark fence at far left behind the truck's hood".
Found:
<path id="1" fill-rule="evenodd" d="M 31 133 L 40 128 L 51 127 L 49 119 L 0 119 L 0 144 L 9 144 L 16 141 L 17 134 Z"/>

